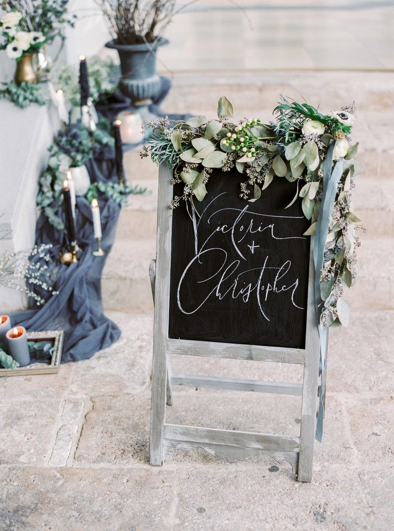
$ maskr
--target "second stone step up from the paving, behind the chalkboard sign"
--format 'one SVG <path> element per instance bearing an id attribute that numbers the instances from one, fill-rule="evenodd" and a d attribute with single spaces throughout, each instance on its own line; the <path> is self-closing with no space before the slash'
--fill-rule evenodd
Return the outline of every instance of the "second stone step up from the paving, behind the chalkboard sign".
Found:
<path id="1" fill-rule="evenodd" d="M 119 218 L 119 238 L 154 238 L 156 235 L 157 168 L 154 178 L 130 181 L 145 186 L 144 195 L 130 195 Z M 353 193 L 354 212 L 369 237 L 394 236 L 394 179 L 361 175 Z"/>

